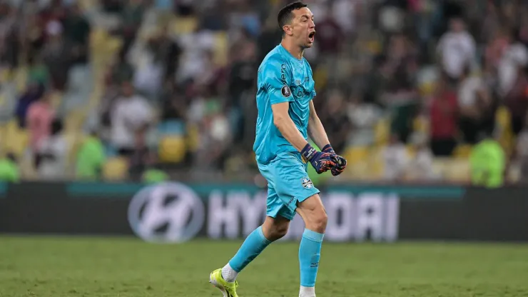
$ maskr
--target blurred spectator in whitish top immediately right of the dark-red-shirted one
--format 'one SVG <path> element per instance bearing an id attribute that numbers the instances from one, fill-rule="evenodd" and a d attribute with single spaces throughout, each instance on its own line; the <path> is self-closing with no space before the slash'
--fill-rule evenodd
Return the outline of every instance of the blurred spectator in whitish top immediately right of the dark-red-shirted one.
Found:
<path id="1" fill-rule="evenodd" d="M 464 141 L 468 144 L 476 144 L 477 135 L 489 126 L 492 98 L 482 78 L 471 76 L 469 71 L 469 67 L 466 67 L 460 76 L 457 94 L 460 109 L 459 126 Z"/>

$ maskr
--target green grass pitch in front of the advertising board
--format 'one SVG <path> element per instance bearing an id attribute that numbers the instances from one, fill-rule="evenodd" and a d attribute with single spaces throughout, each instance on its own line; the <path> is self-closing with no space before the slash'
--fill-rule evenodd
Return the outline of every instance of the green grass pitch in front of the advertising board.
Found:
<path id="1" fill-rule="evenodd" d="M 0 296 L 221 296 L 208 283 L 239 241 L 0 236 Z M 240 273 L 241 297 L 298 296 L 298 243 L 274 243 Z M 528 296 L 528 246 L 323 245 L 320 297 Z"/>

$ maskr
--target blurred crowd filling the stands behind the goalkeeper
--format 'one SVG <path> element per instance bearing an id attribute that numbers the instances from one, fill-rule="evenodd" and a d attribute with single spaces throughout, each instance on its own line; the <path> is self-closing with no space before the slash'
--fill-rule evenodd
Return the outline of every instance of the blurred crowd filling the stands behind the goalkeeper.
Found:
<path id="1" fill-rule="evenodd" d="M 253 179 L 288 2 L 1 1 L 0 178 Z M 527 1 L 304 2 L 337 181 L 528 176 Z"/>

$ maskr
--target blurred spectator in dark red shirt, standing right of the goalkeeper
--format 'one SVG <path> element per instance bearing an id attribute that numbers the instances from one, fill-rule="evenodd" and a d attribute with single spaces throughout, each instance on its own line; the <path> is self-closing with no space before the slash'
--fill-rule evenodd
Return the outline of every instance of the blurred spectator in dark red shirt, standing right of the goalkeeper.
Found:
<path id="1" fill-rule="evenodd" d="M 447 79 L 440 79 L 430 108 L 431 150 L 435 156 L 451 156 L 457 145 L 457 94 Z"/>

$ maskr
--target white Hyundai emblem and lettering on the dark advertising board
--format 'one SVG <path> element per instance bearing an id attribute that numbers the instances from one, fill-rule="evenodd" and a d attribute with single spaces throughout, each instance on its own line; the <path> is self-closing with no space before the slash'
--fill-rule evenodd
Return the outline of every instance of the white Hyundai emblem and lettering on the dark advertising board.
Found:
<path id="1" fill-rule="evenodd" d="M 399 201 L 383 193 L 323 193 L 328 213 L 328 241 L 372 239 L 394 241 Z M 201 197 L 183 183 L 144 188 L 128 208 L 134 233 L 146 241 L 178 242 L 198 235 L 208 238 L 248 236 L 265 218 L 266 192 L 213 189 Z M 285 240 L 300 238 L 303 221 L 296 216 Z"/>

